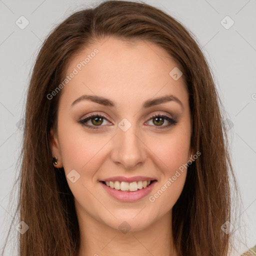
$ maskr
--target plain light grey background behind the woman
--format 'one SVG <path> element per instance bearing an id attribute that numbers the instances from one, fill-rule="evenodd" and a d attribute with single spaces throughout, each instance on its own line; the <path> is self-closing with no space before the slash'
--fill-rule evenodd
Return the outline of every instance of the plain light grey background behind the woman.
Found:
<path id="1" fill-rule="evenodd" d="M 73 10 L 95 5 L 85 0 L 0 0 L 0 246 L 13 218 L 10 192 L 18 174 L 16 166 L 22 138 L 25 93 L 29 74 L 44 38 Z M 242 195 L 240 215 L 234 225 L 236 252 L 256 244 L 256 0 L 146 0 L 178 19 L 196 36 L 212 68 L 229 121 L 232 162 Z M 23 15 L 29 24 L 21 29 Z M 228 15 L 231 20 L 224 18 Z M 224 18 L 224 19 L 223 19 Z M 221 20 L 223 21 L 221 22 Z M 226 23 L 226 24 L 223 24 Z M 25 20 L 22 20 L 25 24 Z M 21 24 L 20 24 L 21 25 Z M 226 27 L 229 27 L 226 29 Z M 18 125 L 20 124 L 20 125 Z M 228 122 L 227 122 L 228 124 Z M 17 196 L 17 186 L 13 200 Z M 8 250 L 17 255 L 17 232 L 12 226 Z M 240 231 L 244 229 L 244 233 Z M 13 238 L 12 238 L 13 237 Z"/>

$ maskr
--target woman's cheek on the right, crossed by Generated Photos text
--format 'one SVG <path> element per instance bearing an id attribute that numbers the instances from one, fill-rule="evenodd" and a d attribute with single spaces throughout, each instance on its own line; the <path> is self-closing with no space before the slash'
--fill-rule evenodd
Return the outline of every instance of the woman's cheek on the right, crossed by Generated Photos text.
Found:
<path id="1" fill-rule="evenodd" d="M 153 148 L 155 165 L 161 172 L 161 178 L 148 200 L 153 208 L 167 212 L 177 201 L 184 186 L 190 148 L 189 132 L 183 130 L 153 137 L 148 147 Z"/>

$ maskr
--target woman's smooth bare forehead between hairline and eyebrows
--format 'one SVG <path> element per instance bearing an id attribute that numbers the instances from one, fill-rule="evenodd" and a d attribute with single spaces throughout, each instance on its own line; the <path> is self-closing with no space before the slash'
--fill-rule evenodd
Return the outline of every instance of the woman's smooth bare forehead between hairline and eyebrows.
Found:
<path id="1" fill-rule="evenodd" d="M 169 74 L 176 67 L 171 56 L 151 42 L 103 39 L 71 59 L 66 75 L 75 75 L 62 89 L 62 100 L 88 93 L 127 103 L 169 93 L 186 100 L 182 76 L 174 80 Z"/>

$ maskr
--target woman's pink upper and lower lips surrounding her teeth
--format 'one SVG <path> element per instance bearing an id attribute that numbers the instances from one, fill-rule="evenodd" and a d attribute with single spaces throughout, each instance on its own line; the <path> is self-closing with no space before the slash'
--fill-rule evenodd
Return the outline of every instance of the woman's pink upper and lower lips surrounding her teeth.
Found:
<path id="1" fill-rule="evenodd" d="M 118 177 L 111 177 L 110 179 L 105 179 L 104 181 L 118 180 L 118 181 L 132 182 L 132 181 L 139 181 L 139 180 L 153 180 L 153 179 L 148 178 L 148 177 L 147 178 L 143 177 L 142 179 L 141 179 L 141 177 L 138 177 L 138 178 L 139 179 L 137 179 L 137 180 L 132 178 L 131 181 L 127 181 L 127 178 L 126 178 L 126 180 L 123 180 L 123 179 L 119 179 Z M 128 178 L 128 180 L 130 180 L 130 178 Z M 152 187 L 154 186 L 154 184 L 156 182 L 157 181 L 154 180 L 147 187 L 142 188 L 142 189 L 138 189 L 138 190 L 133 191 L 133 192 L 117 190 L 117 189 L 114 189 L 114 188 L 111 188 L 111 187 L 105 185 L 103 182 L 99 182 L 99 183 L 103 186 L 105 191 L 109 195 L 114 197 L 115 199 L 117 199 L 119 201 L 124 201 L 124 202 L 132 202 L 132 201 L 140 200 L 141 198 L 143 198 L 147 194 L 149 194 L 152 190 Z"/>

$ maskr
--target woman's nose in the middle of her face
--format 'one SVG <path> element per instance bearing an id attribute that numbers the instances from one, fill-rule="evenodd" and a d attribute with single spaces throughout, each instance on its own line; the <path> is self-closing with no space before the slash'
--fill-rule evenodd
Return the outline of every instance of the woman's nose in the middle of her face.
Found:
<path id="1" fill-rule="evenodd" d="M 143 164 L 146 158 L 145 144 L 135 125 L 123 131 L 117 127 L 113 137 L 111 159 L 124 169 L 134 169 Z"/>

